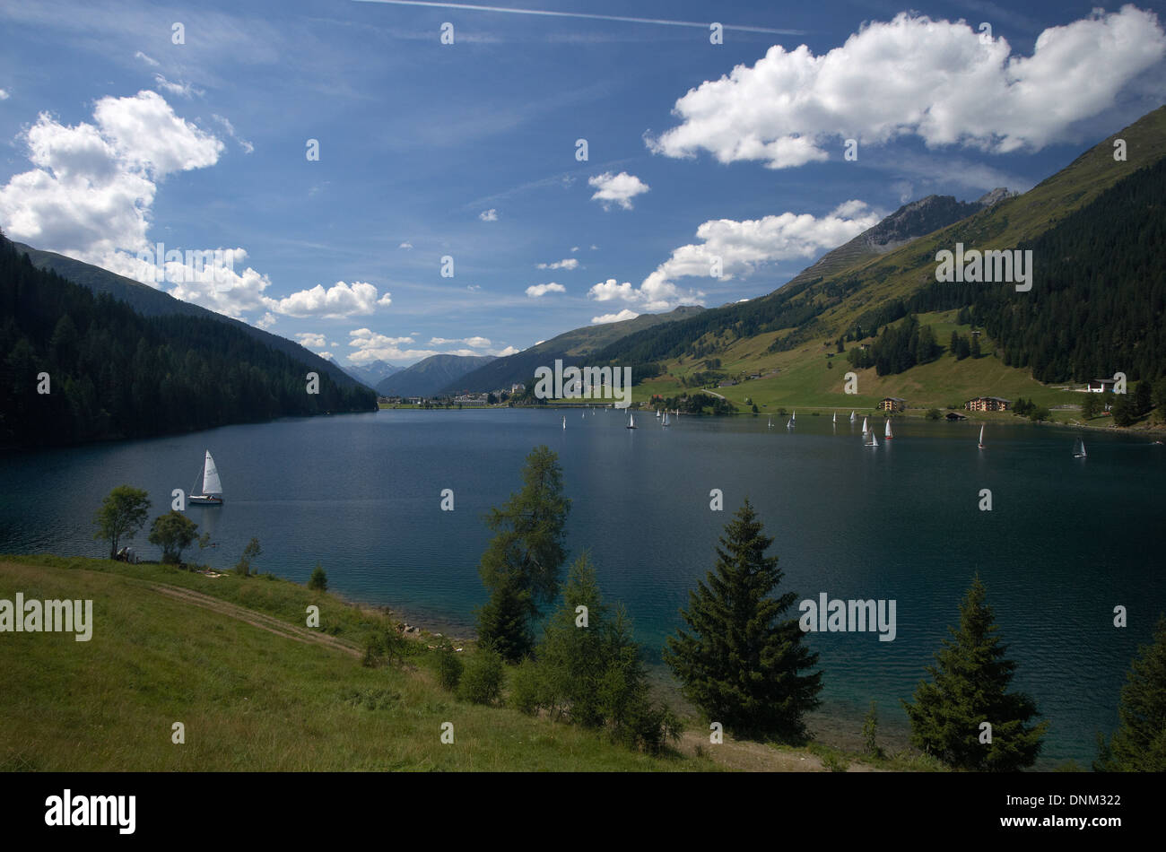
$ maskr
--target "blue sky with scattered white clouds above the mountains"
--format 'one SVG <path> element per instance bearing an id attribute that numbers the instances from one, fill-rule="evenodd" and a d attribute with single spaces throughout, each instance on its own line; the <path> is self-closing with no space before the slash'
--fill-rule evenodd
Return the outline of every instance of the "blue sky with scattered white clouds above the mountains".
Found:
<path id="1" fill-rule="evenodd" d="M 1158 3 L 514 8 L 701 26 L 5 0 L 0 224 L 140 280 L 157 242 L 224 249 L 218 281 L 153 283 L 405 365 L 763 295 L 905 200 L 1030 189 L 1166 100 Z"/>

